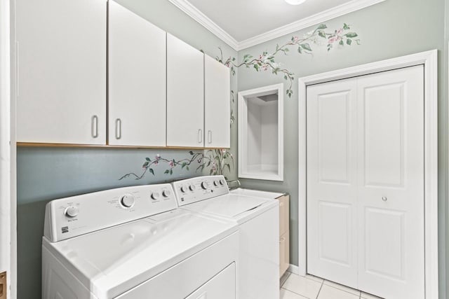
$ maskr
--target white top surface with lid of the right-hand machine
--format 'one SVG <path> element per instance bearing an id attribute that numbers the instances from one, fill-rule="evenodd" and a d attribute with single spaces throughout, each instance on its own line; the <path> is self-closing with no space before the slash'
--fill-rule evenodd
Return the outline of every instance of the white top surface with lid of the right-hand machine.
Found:
<path id="1" fill-rule="evenodd" d="M 241 222 L 250 216 L 256 216 L 266 208 L 278 204 L 276 200 L 268 200 L 260 197 L 246 195 L 226 194 L 203 200 L 194 204 L 188 204 L 185 209 L 197 211 L 224 218 L 232 218 Z"/>

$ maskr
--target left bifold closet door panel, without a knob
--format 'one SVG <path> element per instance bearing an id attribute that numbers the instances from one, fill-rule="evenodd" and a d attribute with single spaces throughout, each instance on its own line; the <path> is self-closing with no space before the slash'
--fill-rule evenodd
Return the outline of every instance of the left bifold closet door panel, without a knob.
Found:
<path id="1" fill-rule="evenodd" d="M 307 88 L 307 272 L 357 287 L 356 79 Z"/>

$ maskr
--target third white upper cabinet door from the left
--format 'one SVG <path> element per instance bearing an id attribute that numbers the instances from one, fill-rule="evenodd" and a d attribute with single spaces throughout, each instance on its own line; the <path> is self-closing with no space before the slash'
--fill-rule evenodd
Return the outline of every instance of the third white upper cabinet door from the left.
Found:
<path id="1" fill-rule="evenodd" d="M 203 57 L 167 34 L 167 146 L 204 146 Z"/>

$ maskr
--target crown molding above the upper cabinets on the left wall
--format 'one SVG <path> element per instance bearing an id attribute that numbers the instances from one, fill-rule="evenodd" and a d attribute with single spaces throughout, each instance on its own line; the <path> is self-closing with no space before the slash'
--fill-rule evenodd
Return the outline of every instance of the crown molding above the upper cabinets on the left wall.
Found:
<path id="1" fill-rule="evenodd" d="M 213 20 L 210 20 L 206 15 L 201 13 L 195 6 L 190 4 L 187 0 L 168 0 L 181 11 L 189 15 L 190 18 L 199 22 L 203 27 L 215 34 L 219 39 L 227 43 L 234 50 L 239 50 L 239 43 L 229 33 L 225 32 L 220 26 L 215 24 Z"/>

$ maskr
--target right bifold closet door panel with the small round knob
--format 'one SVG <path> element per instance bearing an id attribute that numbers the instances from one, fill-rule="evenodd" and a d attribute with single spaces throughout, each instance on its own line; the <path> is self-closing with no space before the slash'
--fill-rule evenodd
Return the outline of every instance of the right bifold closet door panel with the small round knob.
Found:
<path id="1" fill-rule="evenodd" d="M 424 298 L 424 69 L 358 79 L 358 282 Z"/>

